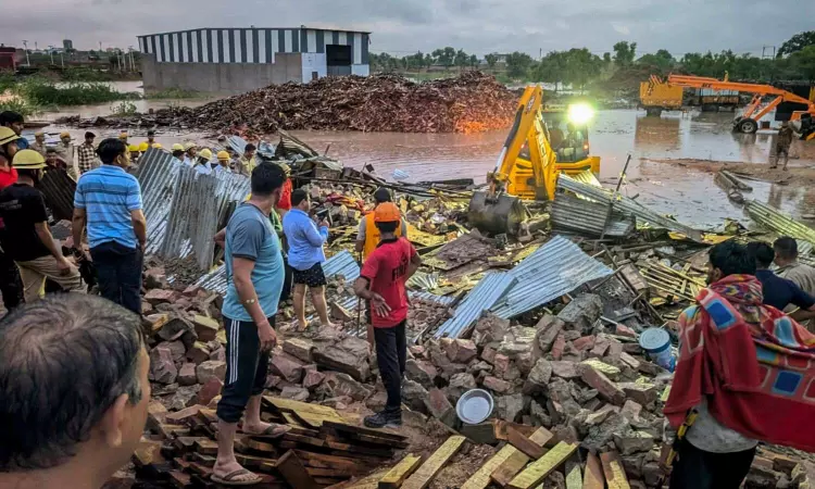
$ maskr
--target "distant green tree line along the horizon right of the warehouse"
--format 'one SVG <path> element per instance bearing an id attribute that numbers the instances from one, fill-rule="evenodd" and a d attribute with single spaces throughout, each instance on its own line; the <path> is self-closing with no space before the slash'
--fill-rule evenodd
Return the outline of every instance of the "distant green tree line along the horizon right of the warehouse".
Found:
<path id="1" fill-rule="evenodd" d="M 499 60 L 502 62 L 499 63 Z M 686 53 L 677 59 L 661 49 L 637 58 L 637 43 L 620 41 L 602 57 L 587 48 L 552 51 L 540 60 L 524 52 L 490 53 L 484 57 L 488 70 L 501 68 L 506 77 L 519 82 L 542 82 L 584 90 L 588 85 L 612 78 L 641 78 L 648 74 L 692 74 L 734 80 L 804 80 L 815 83 L 815 30 L 792 36 L 778 50 L 776 58 L 736 54 L 730 50 L 713 53 Z M 444 68 L 475 68 L 481 65 L 475 54 L 447 47 L 430 53 L 417 52 L 406 57 L 388 53 L 371 55 L 374 71 L 421 71 L 431 66 Z M 500 65 L 500 66 L 499 66 Z"/>

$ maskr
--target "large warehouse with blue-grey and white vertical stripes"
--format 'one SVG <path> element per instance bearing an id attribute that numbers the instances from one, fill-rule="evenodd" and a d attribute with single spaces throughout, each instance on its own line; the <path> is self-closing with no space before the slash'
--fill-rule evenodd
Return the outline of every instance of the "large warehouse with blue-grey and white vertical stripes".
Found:
<path id="1" fill-rule="evenodd" d="M 139 36 L 145 90 L 235 95 L 323 76 L 367 76 L 369 33 L 201 28 Z"/>

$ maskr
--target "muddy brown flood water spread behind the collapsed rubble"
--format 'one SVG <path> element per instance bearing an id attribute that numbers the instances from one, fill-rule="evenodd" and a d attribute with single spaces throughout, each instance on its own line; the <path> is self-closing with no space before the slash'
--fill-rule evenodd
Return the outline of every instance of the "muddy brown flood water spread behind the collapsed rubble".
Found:
<path id="1" fill-rule="evenodd" d="M 140 82 L 114 84 L 122 91 L 140 91 Z M 170 104 L 199 105 L 206 100 L 142 100 L 135 102 L 139 111 L 161 109 Z M 45 114 L 45 120 L 79 114 L 83 117 L 108 115 L 109 105 L 65 108 Z M 655 211 L 673 214 L 677 220 L 701 227 L 715 228 L 724 218 L 745 222 L 742 210 L 730 203 L 713 183 L 707 172 L 673 163 L 652 160 L 690 159 L 767 165 L 773 134 L 740 135 L 731 130 L 732 113 L 665 113 L 662 117 L 645 117 L 636 110 L 600 111 L 589 134 L 592 154 L 602 159 L 600 179 L 614 185 L 631 155 L 623 191 Z M 48 130 L 59 128 L 48 128 Z M 84 130 L 72 130 L 82 138 Z M 100 136 L 115 135 L 115 130 L 100 131 Z M 130 130 L 137 140 L 143 130 Z M 506 138 L 505 131 L 487 134 L 396 134 L 396 133 L 336 133 L 294 131 L 303 141 L 319 152 L 343 164 L 360 168 L 371 163 L 380 176 L 390 178 L 396 170 L 406 172 L 409 180 L 474 178 L 484 181 L 492 170 Z M 200 140 L 200 134 L 167 131 L 156 138 L 167 147 L 186 139 Z M 275 137 L 271 136 L 274 142 Z M 790 166 L 815 167 L 815 145 L 794 141 Z M 815 189 L 802 186 L 780 186 L 751 181 L 754 190 L 745 193 L 781 208 L 794 216 L 812 214 L 815 210 Z"/>

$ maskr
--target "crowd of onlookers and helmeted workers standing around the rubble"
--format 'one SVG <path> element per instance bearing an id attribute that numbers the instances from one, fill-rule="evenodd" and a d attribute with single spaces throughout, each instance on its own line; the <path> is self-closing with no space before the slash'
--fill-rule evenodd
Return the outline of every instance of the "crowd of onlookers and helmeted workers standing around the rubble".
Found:
<path id="1" fill-rule="evenodd" d="M 41 139 L 21 149 L 27 141 L 17 118 L 0 118 L 11 121 L 0 126 L 0 291 L 10 311 L 0 321 L 0 487 L 57 488 L 64 480 L 101 487 L 137 446 L 150 397 L 140 325 L 147 224 L 139 183 L 127 172 L 142 151 L 126 137 L 95 147 L 96 136 L 86 135 L 76 149 L 83 166 L 74 256 L 65 256 L 37 189 L 51 149 L 43 154 Z M 261 481 L 235 455 L 241 419 L 244 434 L 278 437 L 290 429 L 261 417 L 269 355 L 280 340 L 280 302 L 292 297 L 296 329 L 308 327 L 306 297 L 321 325 L 334 326 L 323 269 L 329 223 L 314 212 L 308 191 L 292 188 L 286 164 L 259 163 L 254 151 L 247 145 L 238 159 L 215 155 L 220 172 L 247 172 L 251 186 L 214 237 L 227 272 L 227 368 L 212 479 L 224 485 Z M 172 152 L 198 173 L 218 172 L 209 148 L 174 145 Z M 387 403 L 364 424 L 399 427 L 405 286 L 422 261 L 391 193 L 380 188 L 374 199 L 358 231 L 362 269 L 353 290 L 367 304 L 367 338 Z M 676 440 L 678 454 L 670 472 L 676 489 L 738 488 L 760 441 L 815 450 L 815 432 L 791 422 L 807 418 L 815 402 L 808 393 L 815 335 L 807 330 L 815 318 L 815 269 L 799 261 L 790 237 L 773 246 L 729 240 L 713 247 L 709 259 L 707 287 L 678 319 L 679 355 L 665 405 L 673 428 L 666 437 Z M 84 293 L 77 261 L 92 261 L 101 298 Z M 72 293 L 43 298 L 46 280 Z"/>

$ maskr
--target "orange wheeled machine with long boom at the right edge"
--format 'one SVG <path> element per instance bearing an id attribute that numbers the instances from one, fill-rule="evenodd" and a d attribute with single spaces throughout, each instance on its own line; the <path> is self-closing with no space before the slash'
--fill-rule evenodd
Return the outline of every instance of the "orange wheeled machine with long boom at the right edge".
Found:
<path id="1" fill-rule="evenodd" d="M 738 90 L 739 92 L 753 93 L 753 100 L 744 109 L 744 112 L 734 121 L 734 130 L 744 134 L 754 134 L 758 130 L 758 120 L 767 115 L 773 109 L 782 102 L 793 102 L 806 105 L 805 111 L 794 111 L 790 117 L 790 127 L 800 135 L 800 138 L 808 141 L 815 140 L 815 101 L 807 100 L 781 88 L 772 85 L 741 84 L 729 82 L 727 76 L 724 80 L 707 78 L 703 76 L 668 76 L 668 85 L 674 87 L 712 88 L 714 90 Z M 774 99 L 764 104 L 765 97 Z"/>

